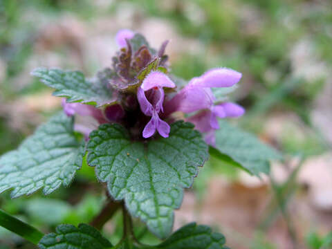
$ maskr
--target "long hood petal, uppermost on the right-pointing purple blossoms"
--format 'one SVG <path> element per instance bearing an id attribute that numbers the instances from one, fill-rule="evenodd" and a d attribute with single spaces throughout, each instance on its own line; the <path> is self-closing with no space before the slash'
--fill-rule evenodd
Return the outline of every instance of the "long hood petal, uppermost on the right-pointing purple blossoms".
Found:
<path id="1" fill-rule="evenodd" d="M 202 87 L 229 87 L 237 84 L 241 77 L 241 73 L 230 68 L 214 68 L 199 77 L 196 84 Z"/>

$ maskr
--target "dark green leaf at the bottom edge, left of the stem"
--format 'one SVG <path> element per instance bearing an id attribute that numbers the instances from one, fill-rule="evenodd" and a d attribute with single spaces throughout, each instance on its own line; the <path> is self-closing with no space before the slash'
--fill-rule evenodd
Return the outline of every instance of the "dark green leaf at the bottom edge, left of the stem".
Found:
<path id="1" fill-rule="evenodd" d="M 55 232 L 46 234 L 38 244 L 41 249 L 104 249 L 111 243 L 90 225 L 58 225 Z"/>

